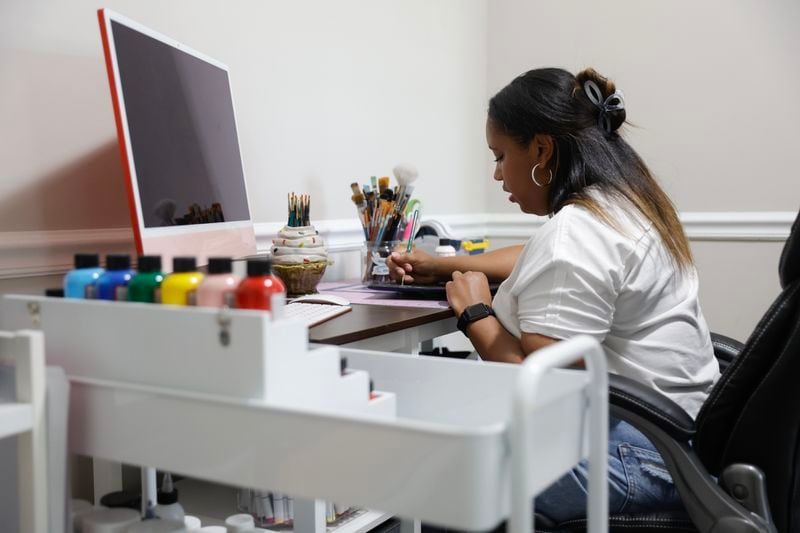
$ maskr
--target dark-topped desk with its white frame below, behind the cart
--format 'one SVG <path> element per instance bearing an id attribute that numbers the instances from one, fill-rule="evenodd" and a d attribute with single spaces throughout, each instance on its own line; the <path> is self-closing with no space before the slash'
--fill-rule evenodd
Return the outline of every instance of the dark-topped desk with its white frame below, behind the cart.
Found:
<path id="1" fill-rule="evenodd" d="M 353 304 L 353 310 L 308 331 L 309 340 L 360 350 L 418 354 L 420 343 L 456 331 L 450 308 Z"/>

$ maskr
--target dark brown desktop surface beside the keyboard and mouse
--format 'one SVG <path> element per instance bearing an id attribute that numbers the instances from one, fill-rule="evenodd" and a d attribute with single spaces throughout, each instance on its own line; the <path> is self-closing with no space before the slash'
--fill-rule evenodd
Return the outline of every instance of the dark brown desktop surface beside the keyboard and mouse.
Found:
<path id="1" fill-rule="evenodd" d="M 353 310 L 308 330 L 309 341 L 348 344 L 451 318 L 453 310 L 353 305 Z"/>

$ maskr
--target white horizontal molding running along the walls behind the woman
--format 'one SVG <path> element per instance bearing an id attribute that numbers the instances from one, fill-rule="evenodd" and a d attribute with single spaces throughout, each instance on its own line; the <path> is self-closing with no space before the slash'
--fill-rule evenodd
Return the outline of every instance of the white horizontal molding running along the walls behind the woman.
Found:
<path id="1" fill-rule="evenodd" d="M 685 212 L 681 221 L 693 241 L 781 242 L 789 236 L 792 211 Z M 526 239 L 547 219 L 521 213 L 452 214 L 435 219 L 458 237 Z M 423 219 L 424 221 L 425 219 Z M 355 218 L 317 222 L 332 253 L 361 249 L 363 233 Z M 266 251 L 280 222 L 255 224 L 259 251 Z M 130 228 L 0 232 L 0 279 L 64 274 L 77 252 L 135 253 Z"/>

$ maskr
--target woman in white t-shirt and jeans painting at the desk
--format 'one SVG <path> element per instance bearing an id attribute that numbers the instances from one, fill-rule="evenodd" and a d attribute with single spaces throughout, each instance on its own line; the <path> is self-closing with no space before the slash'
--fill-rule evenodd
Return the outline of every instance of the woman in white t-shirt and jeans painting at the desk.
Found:
<path id="1" fill-rule="evenodd" d="M 450 279 L 448 300 L 472 319 L 465 333 L 483 359 L 519 363 L 590 335 L 612 372 L 694 417 L 719 377 L 697 273 L 673 205 L 617 133 L 624 122 L 622 93 L 592 69 L 516 78 L 489 102 L 494 179 L 523 212 L 551 218 L 524 247 L 453 258 L 394 253 L 388 264 L 397 280 Z M 494 300 L 489 279 L 504 280 Z M 614 418 L 609 484 L 612 514 L 681 508 L 655 447 Z M 586 487 L 582 463 L 537 497 L 536 511 L 554 522 L 584 517 Z"/>

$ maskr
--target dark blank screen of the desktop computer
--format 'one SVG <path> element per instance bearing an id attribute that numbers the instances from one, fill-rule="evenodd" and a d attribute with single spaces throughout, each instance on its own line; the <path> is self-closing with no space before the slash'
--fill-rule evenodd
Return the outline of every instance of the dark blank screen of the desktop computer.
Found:
<path id="1" fill-rule="evenodd" d="M 111 20 L 144 228 L 250 219 L 228 72 Z"/>

